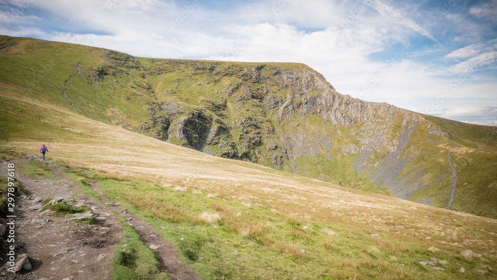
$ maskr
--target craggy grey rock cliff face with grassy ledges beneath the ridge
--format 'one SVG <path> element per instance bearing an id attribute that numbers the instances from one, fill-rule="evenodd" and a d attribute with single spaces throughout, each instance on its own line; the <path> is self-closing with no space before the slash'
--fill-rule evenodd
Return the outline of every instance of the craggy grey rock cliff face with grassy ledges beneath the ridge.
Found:
<path id="1" fill-rule="evenodd" d="M 399 156 L 414 128 L 424 121 L 419 114 L 387 103 L 336 93 L 322 75 L 303 65 L 170 61 L 165 67 L 164 61 L 149 63 L 162 81 L 194 69 L 185 75 L 186 81 L 175 80 L 167 87 L 158 83 L 155 90 L 167 93 L 161 99 L 171 121 L 167 141 L 321 179 L 328 175 L 310 174 L 302 161 L 358 155 L 354 161 L 358 172 L 372 172 L 379 186 L 393 186 L 399 172 L 391 167 L 409 162 L 400 161 Z M 196 82 L 199 78 L 202 82 Z M 209 91 L 213 87 L 221 90 Z M 197 88 L 191 91 L 200 90 L 200 94 L 177 94 L 188 88 Z M 373 153 L 388 154 L 388 161 L 372 162 Z M 383 174 L 383 169 L 391 173 L 388 179 L 374 175 Z"/>

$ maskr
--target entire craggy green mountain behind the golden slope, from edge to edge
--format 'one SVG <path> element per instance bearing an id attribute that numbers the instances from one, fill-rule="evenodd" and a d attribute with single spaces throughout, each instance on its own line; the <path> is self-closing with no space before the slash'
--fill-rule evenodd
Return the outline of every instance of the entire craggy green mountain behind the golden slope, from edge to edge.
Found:
<path id="1" fill-rule="evenodd" d="M 497 218 L 496 127 L 351 98 L 302 64 L 138 58 L 8 36 L 0 37 L 0 63 L 5 91 L 89 119 L 215 156 Z M 19 117 L 36 106 L 0 101 L 5 140 L 56 141 L 71 130 L 50 116 Z M 40 129 L 41 138 L 31 135 Z"/>

